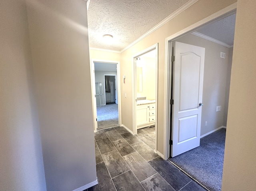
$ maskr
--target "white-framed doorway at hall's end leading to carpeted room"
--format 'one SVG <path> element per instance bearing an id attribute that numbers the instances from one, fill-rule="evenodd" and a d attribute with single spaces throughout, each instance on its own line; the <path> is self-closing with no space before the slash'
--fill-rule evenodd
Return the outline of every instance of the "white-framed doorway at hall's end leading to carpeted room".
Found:
<path id="1" fill-rule="evenodd" d="M 119 65 L 117 61 L 91 60 L 94 132 L 122 124 Z"/>

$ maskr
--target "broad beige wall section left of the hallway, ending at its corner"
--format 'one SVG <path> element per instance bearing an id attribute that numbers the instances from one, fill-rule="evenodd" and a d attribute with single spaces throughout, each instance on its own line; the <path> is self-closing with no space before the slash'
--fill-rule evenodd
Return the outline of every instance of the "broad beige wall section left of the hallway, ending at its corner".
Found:
<path id="1" fill-rule="evenodd" d="M 47 190 L 96 181 L 86 1 L 27 0 Z"/>

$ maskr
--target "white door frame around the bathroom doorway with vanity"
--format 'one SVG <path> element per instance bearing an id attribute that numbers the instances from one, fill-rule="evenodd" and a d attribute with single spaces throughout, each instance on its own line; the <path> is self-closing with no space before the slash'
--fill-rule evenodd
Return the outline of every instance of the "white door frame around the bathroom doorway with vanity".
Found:
<path id="1" fill-rule="evenodd" d="M 155 120 L 155 132 L 156 132 L 156 149 L 155 152 L 157 153 L 157 109 L 158 109 L 158 43 L 142 50 L 141 52 L 138 52 L 137 54 L 135 54 L 134 56 L 132 56 L 132 123 L 133 123 L 133 134 L 136 135 L 137 134 L 137 102 L 136 102 L 136 97 L 137 97 L 137 67 L 136 67 L 136 58 L 138 56 L 141 56 L 142 54 L 145 54 L 151 50 L 156 49 L 156 120 Z"/>

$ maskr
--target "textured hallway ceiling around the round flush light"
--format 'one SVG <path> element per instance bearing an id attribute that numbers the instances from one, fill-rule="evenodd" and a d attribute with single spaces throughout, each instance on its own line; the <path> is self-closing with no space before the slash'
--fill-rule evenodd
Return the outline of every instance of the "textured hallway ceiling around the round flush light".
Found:
<path id="1" fill-rule="evenodd" d="M 189 0 L 90 0 L 90 48 L 121 51 Z M 103 41 L 104 34 L 114 36 Z"/>

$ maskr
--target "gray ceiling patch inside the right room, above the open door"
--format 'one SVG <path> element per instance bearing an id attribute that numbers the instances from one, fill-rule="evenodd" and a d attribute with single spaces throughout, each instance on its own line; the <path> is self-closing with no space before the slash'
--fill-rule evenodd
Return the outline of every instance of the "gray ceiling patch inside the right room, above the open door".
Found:
<path id="1" fill-rule="evenodd" d="M 232 14 L 222 20 L 206 24 L 201 28 L 198 28 L 196 32 L 200 32 L 206 36 L 215 38 L 228 45 L 233 45 L 235 34 L 235 22 L 236 14 Z"/>

